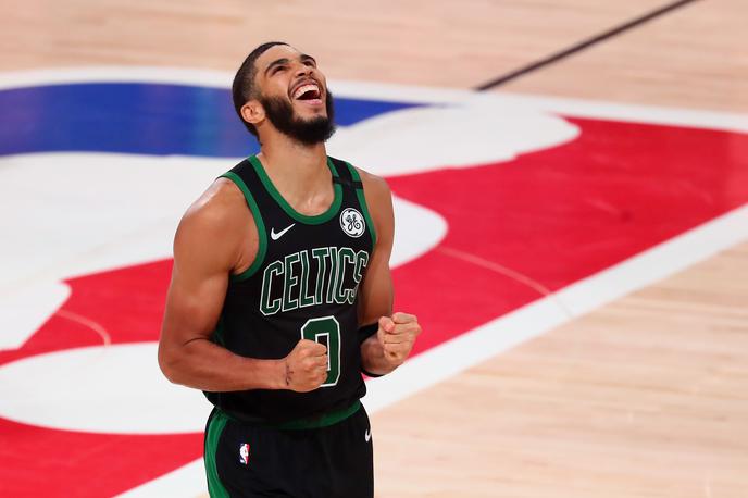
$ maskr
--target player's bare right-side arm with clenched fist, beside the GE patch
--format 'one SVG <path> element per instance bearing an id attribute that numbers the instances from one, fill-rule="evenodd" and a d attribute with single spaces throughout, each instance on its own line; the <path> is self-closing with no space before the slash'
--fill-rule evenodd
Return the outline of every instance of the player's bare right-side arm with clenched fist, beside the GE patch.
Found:
<path id="1" fill-rule="evenodd" d="M 414 315 L 392 314 L 392 252 L 395 215 L 392 195 L 384 179 L 361 172 L 366 204 L 374 217 L 377 240 L 359 294 L 361 325 L 376 323 L 377 333 L 361 344 L 361 365 L 372 374 L 384 375 L 402 364 L 410 354 L 421 326 Z"/>

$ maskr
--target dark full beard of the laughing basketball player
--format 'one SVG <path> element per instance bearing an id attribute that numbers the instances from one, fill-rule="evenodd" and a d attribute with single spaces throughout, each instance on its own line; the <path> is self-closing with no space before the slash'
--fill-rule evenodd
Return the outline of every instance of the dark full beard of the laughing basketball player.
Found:
<path id="1" fill-rule="evenodd" d="M 291 103 L 282 97 L 261 96 L 259 100 L 273 126 L 282 134 L 303 145 L 313 146 L 325 142 L 335 133 L 335 123 L 333 122 L 335 109 L 333 95 L 329 91 L 325 94 L 327 116 L 317 116 L 311 120 L 297 117 L 294 114 Z"/>

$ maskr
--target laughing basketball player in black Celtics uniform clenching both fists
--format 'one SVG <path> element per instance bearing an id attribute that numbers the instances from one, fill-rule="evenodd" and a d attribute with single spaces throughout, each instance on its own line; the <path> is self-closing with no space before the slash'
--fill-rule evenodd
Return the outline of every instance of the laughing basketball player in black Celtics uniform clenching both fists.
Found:
<path id="1" fill-rule="evenodd" d="M 261 153 L 179 223 L 159 364 L 214 404 L 211 496 L 371 497 L 361 372 L 391 372 L 421 332 L 391 310 L 391 195 L 326 155 L 333 98 L 310 55 L 258 47 L 233 95 Z"/>

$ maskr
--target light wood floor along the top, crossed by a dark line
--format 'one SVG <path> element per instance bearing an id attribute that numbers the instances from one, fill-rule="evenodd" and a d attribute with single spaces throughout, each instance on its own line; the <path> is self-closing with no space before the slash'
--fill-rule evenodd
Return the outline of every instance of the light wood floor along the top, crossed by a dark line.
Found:
<path id="1" fill-rule="evenodd" d="M 471 88 L 662 2 L 467 0 L 426 7 L 323 0 L 313 9 L 269 0 L 0 4 L 5 13 L 0 71 L 82 64 L 235 70 L 248 48 L 283 39 L 314 53 L 333 79 Z M 747 17 L 748 3 L 740 0 L 697 1 L 504 89 L 746 111 Z"/>

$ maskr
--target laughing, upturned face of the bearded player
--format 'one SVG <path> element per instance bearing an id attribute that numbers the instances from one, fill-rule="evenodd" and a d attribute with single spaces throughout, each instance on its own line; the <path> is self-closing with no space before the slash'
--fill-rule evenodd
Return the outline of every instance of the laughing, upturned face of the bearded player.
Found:
<path id="1" fill-rule="evenodd" d="M 255 66 L 258 100 L 280 133 L 308 145 L 335 133 L 333 97 L 312 57 L 279 45 L 260 55 Z"/>

